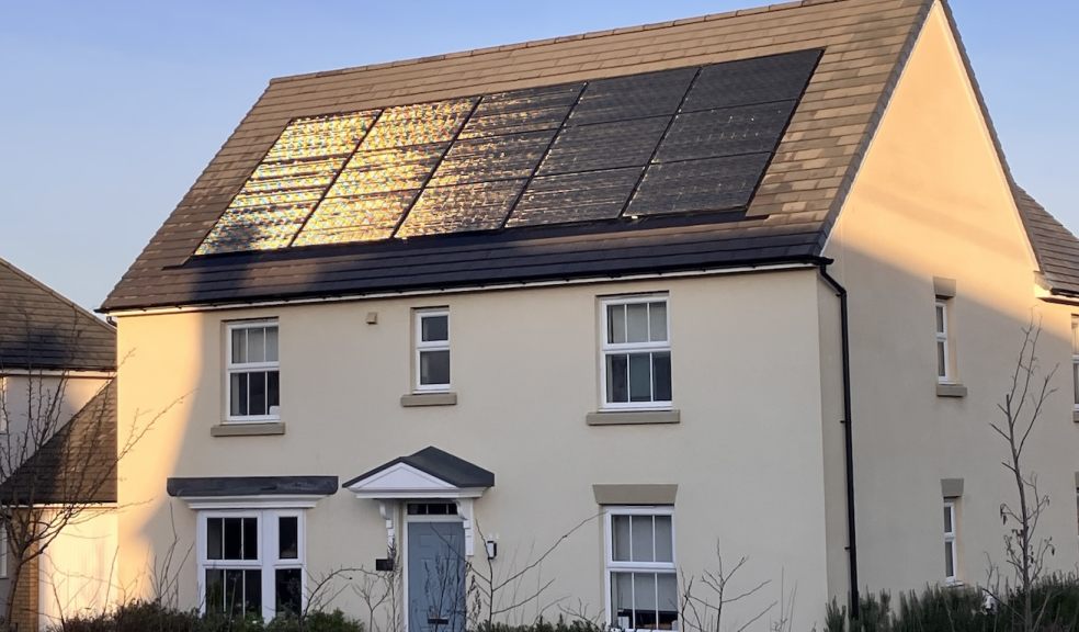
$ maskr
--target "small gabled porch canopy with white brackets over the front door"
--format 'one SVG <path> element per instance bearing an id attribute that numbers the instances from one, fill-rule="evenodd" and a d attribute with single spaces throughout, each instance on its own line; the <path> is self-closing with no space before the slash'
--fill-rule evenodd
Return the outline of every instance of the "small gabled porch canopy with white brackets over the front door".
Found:
<path id="1" fill-rule="evenodd" d="M 473 500 L 495 486 L 495 473 L 433 445 L 356 476 L 342 487 L 356 498 L 378 500 L 390 548 L 396 544 L 395 509 L 402 500 L 454 500 L 465 528 L 465 555 L 475 550 Z"/>

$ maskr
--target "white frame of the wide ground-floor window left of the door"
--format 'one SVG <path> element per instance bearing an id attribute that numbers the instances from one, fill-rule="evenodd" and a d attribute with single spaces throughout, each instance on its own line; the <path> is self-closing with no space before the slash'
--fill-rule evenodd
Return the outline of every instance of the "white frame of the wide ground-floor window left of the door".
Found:
<path id="1" fill-rule="evenodd" d="M 206 613 L 206 571 L 215 568 L 262 572 L 262 619 L 270 621 L 276 617 L 277 599 L 274 591 L 279 568 L 299 568 L 300 607 L 307 608 L 307 528 L 305 512 L 296 509 L 206 509 L 200 510 L 195 546 L 197 548 L 198 602 L 200 610 Z M 258 520 L 259 548 L 255 560 L 209 560 L 207 557 L 207 527 L 212 518 L 254 518 Z M 277 519 L 296 518 L 296 558 L 279 558 Z"/>

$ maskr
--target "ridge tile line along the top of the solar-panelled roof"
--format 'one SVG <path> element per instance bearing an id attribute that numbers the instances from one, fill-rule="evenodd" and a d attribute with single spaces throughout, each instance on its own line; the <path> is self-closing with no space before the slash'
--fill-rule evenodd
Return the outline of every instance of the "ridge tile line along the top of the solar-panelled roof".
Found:
<path id="1" fill-rule="evenodd" d="M 349 75 L 352 72 L 362 72 L 366 70 L 375 70 L 383 68 L 397 68 L 400 66 L 416 66 L 419 64 L 424 64 L 429 61 L 441 61 L 443 59 L 458 59 L 462 57 L 476 57 L 478 55 L 488 55 L 491 53 L 502 53 L 506 50 L 515 50 L 521 48 L 536 48 L 540 46 L 549 46 L 553 44 L 561 44 L 564 42 L 572 42 L 576 40 L 597 40 L 600 37 L 606 37 L 611 35 L 621 35 L 624 33 L 636 33 L 640 31 L 655 31 L 658 29 L 670 29 L 672 26 L 681 26 L 683 24 L 693 24 L 697 22 L 714 22 L 716 20 L 728 20 L 731 18 L 738 18 L 742 15 L 754 15 L 758 13 L 769 13 L 773 11 L 787 11 L 791 9 L 802 9 L 804 7 L 814 7 L 818 4 L 837 4 L 840 2 L 849 2 L 850 0 L 794 0 L 793 2 L 780 2 L 776 4 L 762 4 L 759 7 L 750 7 L 746 9 L 736 9 L 734 11 L 724 11 L 722 13 L 706 13 L 704 15 L 697 15 L 692 18 L 680 18 L 678 20 L 667 20 L 663 22 L 651 22 L 649 24 L 637 24 L 633 26 L 620 26 L 616 29 L 605 29 L 602 31 L 587 31 L 584 33 L 577 33 L 571 35 L 558 35 L 555 37 L 545 37 L 543 40 L 530 40 L 526 42 L 518 42 L 513 44 L 498 44 L 495 46 L 485 46 L 482 48 L 472 48 L 468 50 L 456 50 L 453 53 L 443 53 L 439 55 L 428 55 L 425 57 L 412 57 L 410 59 L 397 59 L 394 61 L 379 61 L 376 64 L 365 64 L 363 66 L 349 66 L 345 68 L 337 68 L 334 70 L 320 70 L 315 72 L 303 72 L 299 75 L 286 75 L 284 77 L 274 77 L 270 79 L 270 84 L 274 83 L 286 83 L 289 81 L 303 80 L 303 79 L 314 79 L 320 77 L 334 77 L 338 75 Z"/>

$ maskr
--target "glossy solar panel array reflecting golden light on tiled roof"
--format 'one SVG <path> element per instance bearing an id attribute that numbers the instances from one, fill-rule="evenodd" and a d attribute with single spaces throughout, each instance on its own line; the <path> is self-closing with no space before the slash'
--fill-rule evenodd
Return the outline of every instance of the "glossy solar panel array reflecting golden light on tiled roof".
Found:
<path id="1" fill-rule="evenodd" d="M 297 119 L 196 253 L 740 210 L 819 56 Z"/>

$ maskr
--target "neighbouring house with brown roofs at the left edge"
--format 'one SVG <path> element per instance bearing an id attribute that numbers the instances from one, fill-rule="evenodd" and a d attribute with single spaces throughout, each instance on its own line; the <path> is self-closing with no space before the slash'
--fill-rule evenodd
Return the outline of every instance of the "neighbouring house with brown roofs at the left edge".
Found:
<path id="1" fill-rule="evenodd" d="M 0 259 L 0 612 L 12 629 L 111 601 L 115 373 L 111 326 Z"/>

